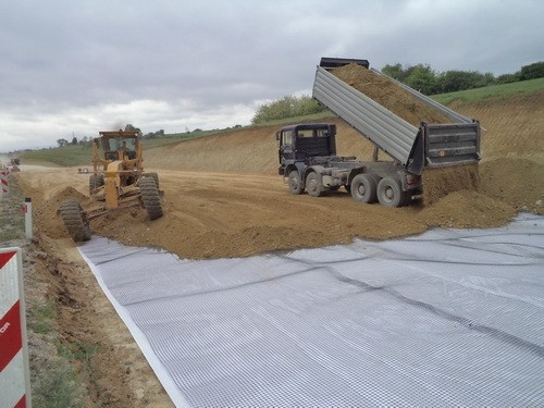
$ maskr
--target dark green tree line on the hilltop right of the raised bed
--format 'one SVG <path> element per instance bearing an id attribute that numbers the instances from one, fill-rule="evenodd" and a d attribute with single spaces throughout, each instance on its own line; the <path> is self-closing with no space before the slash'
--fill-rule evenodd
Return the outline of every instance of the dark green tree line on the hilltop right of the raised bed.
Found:
<path id="1" fill-rule="evenodd" d="M 490 85 L 509 84 L 544 77 L 544 61 L 522 66 L 514 74 L 493 75 L 479 71 L 435 72 L 429 64 L 385 65 L 382 72 L 425 95 L 447 94 Z"/>

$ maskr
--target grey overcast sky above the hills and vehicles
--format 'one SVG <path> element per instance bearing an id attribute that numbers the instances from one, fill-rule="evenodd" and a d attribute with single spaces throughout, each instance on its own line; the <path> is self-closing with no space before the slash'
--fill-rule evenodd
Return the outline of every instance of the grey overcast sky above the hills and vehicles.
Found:
<path id="1" fill-rule="evenodd" d="M 510 73 L 544 60 L 544 1 L 0 0 L 0 151 L 248 124 L 310 94 L 320 57 Z"/>

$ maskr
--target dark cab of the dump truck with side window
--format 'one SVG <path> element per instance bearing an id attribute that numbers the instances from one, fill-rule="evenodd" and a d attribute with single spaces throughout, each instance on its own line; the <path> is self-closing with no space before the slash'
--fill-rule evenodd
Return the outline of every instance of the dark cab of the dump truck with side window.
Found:
<path id="1" fill-rule="evenodd" d="M 276 133 L 280 175 L 287 170 L 311 165 L 319 158 L 336 156 L 336 125 L 304 123 L 284 126 Z M 297 165 L 299 163 L 299 165 Z"/>

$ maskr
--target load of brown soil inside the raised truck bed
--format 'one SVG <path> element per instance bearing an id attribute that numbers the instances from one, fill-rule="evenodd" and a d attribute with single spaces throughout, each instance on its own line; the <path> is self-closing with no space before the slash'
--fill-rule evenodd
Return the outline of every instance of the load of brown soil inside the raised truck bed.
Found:
<path id="1" fill-rule="evenodd" d="M 332 73 L 416 127 L 419 127 L 421 122 L 452 122 L 447 116 L 418 101 L 387 77 L 361 65 L 344 65 Z"/>

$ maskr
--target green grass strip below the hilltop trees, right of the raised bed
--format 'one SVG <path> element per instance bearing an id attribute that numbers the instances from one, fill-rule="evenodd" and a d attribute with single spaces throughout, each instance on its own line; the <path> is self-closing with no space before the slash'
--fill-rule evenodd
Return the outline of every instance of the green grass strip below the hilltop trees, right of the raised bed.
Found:
<path id="1" fill-rule="evenodd" d="M 433 95 L 432 98 L 437 102 L 447 106 L 456 100 L 463 102 L 475 102 L 490 98 L 509 98 L 520 94 L 531 94 L 540 89 L 544 89 L 544 78 L 520 81 L 511 84 L 492 85 L 483 88 Z"/>

